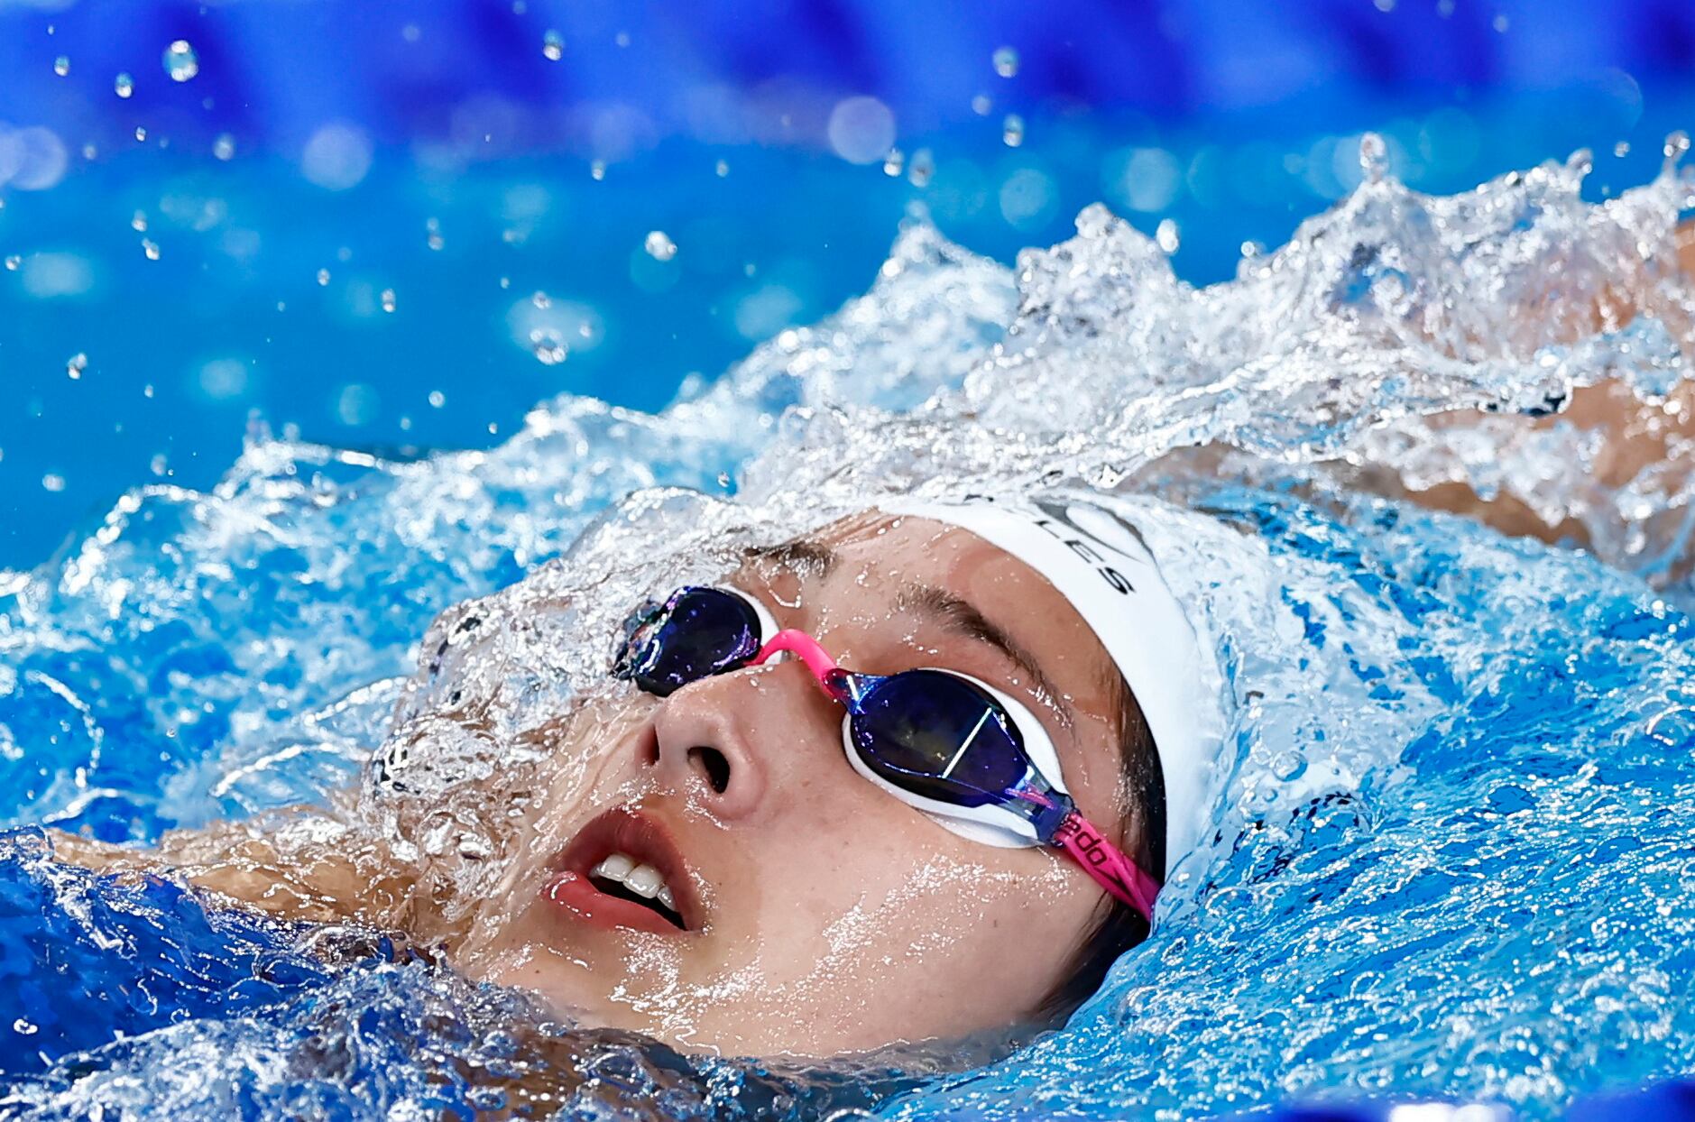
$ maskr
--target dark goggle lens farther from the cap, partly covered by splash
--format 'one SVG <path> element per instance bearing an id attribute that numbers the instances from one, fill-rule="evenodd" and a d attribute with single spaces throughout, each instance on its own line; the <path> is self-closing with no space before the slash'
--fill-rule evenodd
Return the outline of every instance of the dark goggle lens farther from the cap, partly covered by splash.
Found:
<path id="1" fill-rule="evenodd" d="M 683 588 L 631 620 L 614 671 L 670 697 L 692 681 L 746 666 L 759 653 L 759 617 L 719 588 Z"/>

